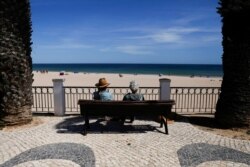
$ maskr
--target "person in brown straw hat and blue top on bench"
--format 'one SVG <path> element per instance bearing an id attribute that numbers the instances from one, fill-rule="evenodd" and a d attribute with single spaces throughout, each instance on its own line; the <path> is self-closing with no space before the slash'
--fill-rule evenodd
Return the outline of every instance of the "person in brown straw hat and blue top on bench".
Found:
<path id="1" fill-rule="evenodd" d="M 100 78 L 99 82 L 95 84 L 98 88 L 97 92 L 94 92 L 94 100 L 113 100 L 113 96 L 108 92 L 107 87 L 110 85 L 106 78 Z"/>

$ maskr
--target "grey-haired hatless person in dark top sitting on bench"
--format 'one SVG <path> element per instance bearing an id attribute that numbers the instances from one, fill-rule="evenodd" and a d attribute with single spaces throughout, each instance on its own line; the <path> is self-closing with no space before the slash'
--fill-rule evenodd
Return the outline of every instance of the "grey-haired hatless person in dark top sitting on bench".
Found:
<path id="1" fill-rule="evenodd" d="M 124 97 L 123 97 L 123 101 L 144 101 L 144 96 L 140 93 L 138 93 L 139 90 L 139 84 L 136 83 L 135 81 L 131 81 L 129 83 L 129 88 L 131 90 L 131 93 L 127 93 Z M 121 118 L 122 121 L 125 121 L 125 118 Z M 134 121 L 134 116 L 130 116 L 130 122 Z"/>

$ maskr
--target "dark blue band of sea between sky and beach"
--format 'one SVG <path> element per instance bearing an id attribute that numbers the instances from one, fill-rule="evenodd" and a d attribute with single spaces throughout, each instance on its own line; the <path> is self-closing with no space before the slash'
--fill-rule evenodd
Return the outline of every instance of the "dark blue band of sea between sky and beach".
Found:
<path id="1" fill-rule="evenodd" d="M 84 73 L 158 74 L 222 77 L 222 65 L 215 64 L 33 64 L 33 71 Z"/>

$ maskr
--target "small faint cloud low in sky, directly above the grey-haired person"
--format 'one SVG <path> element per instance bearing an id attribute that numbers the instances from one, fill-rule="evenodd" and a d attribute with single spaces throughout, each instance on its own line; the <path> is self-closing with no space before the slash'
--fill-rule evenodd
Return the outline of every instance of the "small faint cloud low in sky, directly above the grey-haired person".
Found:
<path id="1" fill-rule="evenodd" d="M 133 45 L 118 46 L 118 47 L 116 47 L 116 49 L 120 52 L 131 54 L 131 55 L 148 55 L 148 54 L 153 53 L 153 52 L 147 50 L 145 47 L 133 46 Z"/>

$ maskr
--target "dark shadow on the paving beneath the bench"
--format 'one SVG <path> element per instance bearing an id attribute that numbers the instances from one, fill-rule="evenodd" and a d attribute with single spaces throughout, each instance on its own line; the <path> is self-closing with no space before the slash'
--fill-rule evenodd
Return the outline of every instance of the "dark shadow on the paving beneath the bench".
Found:
<path id="1" fill-rule="evenodd" d="M 137 119 L 138 120 L 138 119 Z M 142 120 L 140 118 L 139 120 Z M 100 134 L 100 133 L 147 133 L 149 131 L 155 131 L 157 133 L 164 133 L 157 128 L 159 126 L 154 126 L 151 124 L 132 124 L 129 120 L 125 121 L 105 121 L 103 118 L 92 118 L 90 119 L 90 129 L 87 130 L 90 134 Z M 65 118 L 64 121 L 55 125 L 57 133 L 83 133 L 84 128 L 84 118 L 81 116 Z"/>

